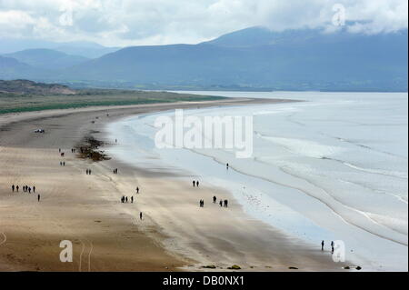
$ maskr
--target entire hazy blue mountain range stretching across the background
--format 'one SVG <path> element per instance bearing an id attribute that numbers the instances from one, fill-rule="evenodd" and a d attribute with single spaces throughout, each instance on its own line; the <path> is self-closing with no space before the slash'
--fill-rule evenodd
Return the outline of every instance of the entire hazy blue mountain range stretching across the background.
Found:
<path id="1" fill-rule="evenodd" d="M 197 45 L 131 46 L 93 59 L 29 49 L 3 55 L 0 78 L 146 89 L 407 91 L 407 37 L 407 29 L 365 35 L 250 27 Z"/>

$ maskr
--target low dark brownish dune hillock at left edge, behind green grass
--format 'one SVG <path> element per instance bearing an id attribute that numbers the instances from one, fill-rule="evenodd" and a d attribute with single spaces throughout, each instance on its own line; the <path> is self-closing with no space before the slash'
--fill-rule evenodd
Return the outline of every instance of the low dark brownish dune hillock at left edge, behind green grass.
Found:
<path id="1" fill-rule="evenodd" d="M 0 80 L 0 93 L 29 95 L 75 95 L 75 90 L 66 85 L 35 83 L 28 80 Z"/>

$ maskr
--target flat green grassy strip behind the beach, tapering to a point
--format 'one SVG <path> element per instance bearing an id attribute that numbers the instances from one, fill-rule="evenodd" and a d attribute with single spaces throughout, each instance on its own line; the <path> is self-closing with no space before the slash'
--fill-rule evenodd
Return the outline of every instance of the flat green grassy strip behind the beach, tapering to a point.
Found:
<path id="1" fill-rule="evenodd" d="M 84 89 L 75 95 L 21 95 L 0 92 L 0 114 L 100 105 L 141 105 L 223 99 L 221 96 L 126 90 Z"/>

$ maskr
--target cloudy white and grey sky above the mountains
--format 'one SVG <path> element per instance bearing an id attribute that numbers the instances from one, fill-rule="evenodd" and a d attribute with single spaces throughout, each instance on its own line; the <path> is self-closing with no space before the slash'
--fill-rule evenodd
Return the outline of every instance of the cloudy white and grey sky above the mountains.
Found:
<path id="1" fill-rule="evenodd" d="M 348 23 L 361 22 L 352 32 L 407 28 L 408 0 L 0 0 L 0 37 L 195 44 L 254 25 L 333 29 L 335 4 Z"/>

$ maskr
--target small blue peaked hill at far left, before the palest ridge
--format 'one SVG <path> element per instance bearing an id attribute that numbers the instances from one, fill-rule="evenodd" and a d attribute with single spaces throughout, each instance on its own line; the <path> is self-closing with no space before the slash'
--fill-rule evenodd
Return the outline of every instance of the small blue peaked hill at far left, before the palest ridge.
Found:
<path id="1" fill-rule="evenodd" d="M 65 53 L 45 48 L 26 49 L 13 54 L 4 55 L 13 57 L 19 62 L 44 69 L 56 70 L 73 65 L 79 65 L 88 58 L 79 55 L 66 55 Z"/>

